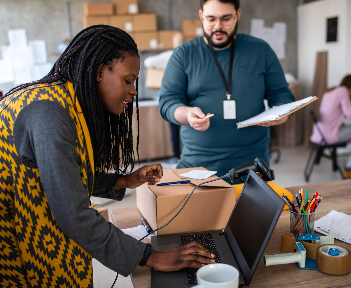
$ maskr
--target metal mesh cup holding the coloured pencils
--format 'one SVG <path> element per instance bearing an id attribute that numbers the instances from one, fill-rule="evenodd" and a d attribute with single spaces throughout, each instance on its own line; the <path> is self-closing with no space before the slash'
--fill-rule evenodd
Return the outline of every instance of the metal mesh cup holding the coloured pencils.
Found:
<path id="1" fill-rule="evenodd" d="M 314 213 L 296 213 L 290 211 L 290 233 L 296 237 L 314 232 Z"/>

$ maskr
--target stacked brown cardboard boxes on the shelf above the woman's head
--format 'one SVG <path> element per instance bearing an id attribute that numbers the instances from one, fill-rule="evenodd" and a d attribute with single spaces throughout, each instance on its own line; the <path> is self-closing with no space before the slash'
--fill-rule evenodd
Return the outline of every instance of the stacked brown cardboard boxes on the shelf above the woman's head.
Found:
<path id="1" fill-rule="evenodd" d="M 113 3 L 86 3 L 84 27 L 107 24 L 130 34 L 139 50 L 172 49 L 177 31 L 157 31 L 155 13 L 139 13 L 137 0 L 113 0 Z"/>

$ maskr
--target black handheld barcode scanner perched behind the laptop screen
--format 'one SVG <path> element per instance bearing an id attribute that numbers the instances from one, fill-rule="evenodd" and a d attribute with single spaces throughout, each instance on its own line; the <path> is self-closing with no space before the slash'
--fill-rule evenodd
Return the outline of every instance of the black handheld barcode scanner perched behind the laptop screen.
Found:
<path id="1" fill-rule="evenodd" d="M 237 179 L 240 179 L 240 181 L 245 182 L 245 180 L 242 177 L 249 174 L 251 169 L 254 172 L 258 173 L 261 176 L 261 178 L 265 181 L 272 181 L 276 179 L 276 177 L 274 176 L 274 171 L 271 170 L 266 164 L 266 162 L 264 162 L 261 158 L 255 158 L 255 160 L 251 162 L 247 162 L 243 165 L 233 168 L 229 171 L 229 178 L 232 182 L 234 182 Z"/>

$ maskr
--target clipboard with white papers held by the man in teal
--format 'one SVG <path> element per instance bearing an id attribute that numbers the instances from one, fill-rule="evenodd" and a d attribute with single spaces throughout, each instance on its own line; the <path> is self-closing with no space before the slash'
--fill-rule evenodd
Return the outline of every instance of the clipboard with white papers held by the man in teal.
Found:
<path id="1" fill-rule="evenodd" d="M 275 121 L 283 118 L 284 116 L 287 116 L 291 113 L 294 113 L 298 109 L 301 109 L 305 107 L 306 105 L 309 105 L 313 101 L 317 100 L 318 98 L 316 96 L 310 96 L 307 98 L 304 98 L 302 100 L 298 100 L 295 102 L 279 105 L 279 106 L 273 106 L 272 108 L 256 115 L 253 116 L 245 121 L 241 121 L 237 123 L 237 128 L 244 128 L 252 125 L 257 125 L 269 121 Z"/>

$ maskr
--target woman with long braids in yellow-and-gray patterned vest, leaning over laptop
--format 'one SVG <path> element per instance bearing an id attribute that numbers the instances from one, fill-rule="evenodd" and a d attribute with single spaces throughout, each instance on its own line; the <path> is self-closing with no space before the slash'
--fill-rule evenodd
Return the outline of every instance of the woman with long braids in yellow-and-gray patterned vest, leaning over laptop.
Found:
<path id="1" fill-rule="evenodd" d="M 145 253 L 89 207 L 91 195 L 122 200 L 125 188 L 162 177 L 158 164 L 131 173 L 139 69 L 131 36 L 91 26 L 48 75 L 1 99 L 1 287 L 92 287 L 92 257 L 124 276 L 138 264 L 175 271 L 213 262 L 199 257 L 211 257 L 199 243 Z"/>

